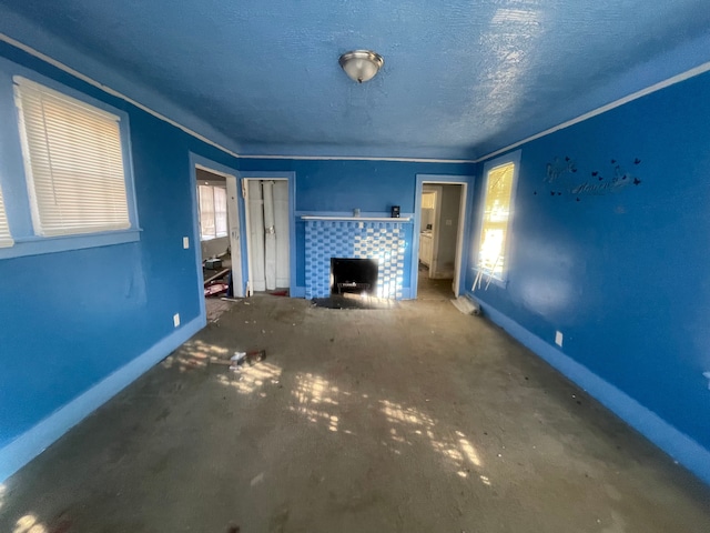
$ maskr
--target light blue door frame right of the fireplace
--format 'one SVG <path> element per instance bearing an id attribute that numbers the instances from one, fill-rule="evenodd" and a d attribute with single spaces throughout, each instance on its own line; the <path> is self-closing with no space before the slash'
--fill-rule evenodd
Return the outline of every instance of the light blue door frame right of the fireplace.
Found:
<path id="1" fill-rule="evenodd" d="M 419 232 L 422 227 L 422 192 L 424 190 L 424 183 L 433 185 L 462 185 L 458 208 L 458 230 L 456 233 L 456 266 L 454 272 L 454 295 L 459 296 L 463 294 L 462 288 L 466 280 L 464 243 L 470 242 L 470 224 L 467 218 L 473 208 L 474 182 L 475 177 L 473 175 L 416 174 L 414 228 L 412 230 L 412 270 L 409 274 L 412 299 L 417 298 L 417 285 L 419 282 Z"/>

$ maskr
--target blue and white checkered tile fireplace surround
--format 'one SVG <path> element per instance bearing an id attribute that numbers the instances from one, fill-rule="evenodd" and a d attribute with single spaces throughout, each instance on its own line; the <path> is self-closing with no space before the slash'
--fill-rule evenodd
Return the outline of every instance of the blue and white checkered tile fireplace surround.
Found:
<path id="1" fill-rule="evenodd" d="M 378 260 L 377 298 L 400 300 L 406 223 L 367 219 L 306 220 L 306 299 L 329 296 L 331 258 L 353 258 Z"/>

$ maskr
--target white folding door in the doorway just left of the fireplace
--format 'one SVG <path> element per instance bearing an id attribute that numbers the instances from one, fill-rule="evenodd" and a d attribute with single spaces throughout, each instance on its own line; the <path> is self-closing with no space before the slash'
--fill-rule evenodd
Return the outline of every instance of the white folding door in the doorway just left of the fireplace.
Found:
<path id="1" fill-rule="evenodd" d="M 243 178 L 246 294 L 291 293 L 290 185 L 283 178 Z"/>

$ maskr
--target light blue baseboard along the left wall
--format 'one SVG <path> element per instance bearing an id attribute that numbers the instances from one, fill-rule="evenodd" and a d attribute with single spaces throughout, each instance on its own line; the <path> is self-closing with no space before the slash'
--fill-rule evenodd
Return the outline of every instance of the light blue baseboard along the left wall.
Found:
<path id="1" fill-rule="evenodd" d="M 146 352 L 116 370 L 0 449 L 0 483 L 42 453 L 71 428 L 95 411 L 206 324 L 204 316 L 187 322 Z"/>

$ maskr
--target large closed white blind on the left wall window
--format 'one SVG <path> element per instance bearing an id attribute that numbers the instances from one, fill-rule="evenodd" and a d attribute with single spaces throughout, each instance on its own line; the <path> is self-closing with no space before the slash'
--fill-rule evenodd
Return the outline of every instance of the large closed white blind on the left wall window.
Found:
<path id="1" fill-rule="evenodd" d="M 119 117 L 24 78 L 14 82 L 36 233 L 129 229 Z"/>

